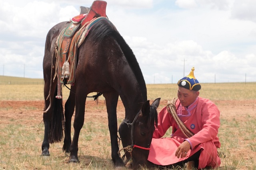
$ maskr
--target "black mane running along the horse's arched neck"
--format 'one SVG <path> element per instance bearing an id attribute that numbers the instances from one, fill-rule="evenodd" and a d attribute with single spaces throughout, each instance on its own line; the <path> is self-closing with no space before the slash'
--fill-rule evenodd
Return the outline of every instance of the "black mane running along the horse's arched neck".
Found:
<path id="1" fill-rule="evenodd" d="M 94 31 L 94 33 L 91 34 L 91 36 L 92 39 L 94 39 L 95 41 L 101 41 L 107 35 L 112 35 L 115 38 L 120 48 L 122 49 L 122 52 L 124 53 L 124 56 L 126 57 L 130 68 L 132 69 L 134 75 L 136 76 L 140 89 L 142 90 L 142 98 L 144 99 L 144 101 L 146 101 L 146 84 L 138 61 L 134 53 L 132 52 L 132 49 L 128 46 L 124 38 L 116 30 L 116 27 L 110 21 L 100 20 L 94 25 L 94 28 L 91 31 Z"/>

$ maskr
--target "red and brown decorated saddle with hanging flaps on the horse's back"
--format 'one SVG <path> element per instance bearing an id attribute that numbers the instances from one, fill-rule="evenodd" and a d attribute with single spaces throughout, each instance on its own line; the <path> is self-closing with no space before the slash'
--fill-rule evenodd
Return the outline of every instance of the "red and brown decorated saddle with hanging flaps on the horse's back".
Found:
<path id="1" fill-rule="evenodd" d="M 80 15 L 75 16 L 65 27 L 56 41 L 56 67 L 54 79 L 58 78 L 58 89 L 60 83 L 73 84 L 75 82 L 75 69 L 77 61 L 77 50 L 84 42 L 90 29 L 96 21 L 107 19 L 106 2 L 95 0 L 90 8 L 80 7 Z M 61 97 L 61 90 L 58 96 Z"/>

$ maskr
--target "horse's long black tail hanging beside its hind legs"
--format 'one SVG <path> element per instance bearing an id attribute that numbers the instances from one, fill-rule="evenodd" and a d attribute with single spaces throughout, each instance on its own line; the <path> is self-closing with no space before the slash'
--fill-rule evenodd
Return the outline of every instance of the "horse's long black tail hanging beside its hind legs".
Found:
<path id="1" fill-rule="evenodd" d="M 56 90 L 57 91 L 57 90 Z M 55 96 L 55 95 L 54 95 Z M 63 139 L 64 113 L 62 99 L 53 98 L 53 113 L 50 121 L 49 142 L 60 142 Z"/>

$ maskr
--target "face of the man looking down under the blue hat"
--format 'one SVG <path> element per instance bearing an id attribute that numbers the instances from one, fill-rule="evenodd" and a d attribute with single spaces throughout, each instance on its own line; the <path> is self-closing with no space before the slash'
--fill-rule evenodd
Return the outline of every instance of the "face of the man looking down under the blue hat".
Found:
<path id="1" fill-rule="evenodd" d="M 184 107 L 190 106 L 199 96 L 199 91 L 188 90 L 180 86 L 178 87 L 178 98 L 180 99 L 181 105 Z"/>

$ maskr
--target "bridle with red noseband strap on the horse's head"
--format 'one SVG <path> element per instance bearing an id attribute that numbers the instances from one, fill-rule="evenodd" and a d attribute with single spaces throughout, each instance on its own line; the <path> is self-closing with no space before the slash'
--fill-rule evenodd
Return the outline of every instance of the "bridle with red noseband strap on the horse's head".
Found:
<path id="1" fill-rule="evenodd" d="M 131 157 L 132 157 L 132 150 L 133 150 L 133 148 L 139 148 L 139 149 L 143 149 L 143 150 L 150 150 L 150 147 L 149 147 L 149 148 L 145 148 L 145 147 L 141 147 L 141 146 L 138 146 L 138 145 L 134 145 L 134 143 L 133 143 L 134 124 L 135 124 L 136 119 L 137 119 L 138 116 L 140 115 L 140 113 L 141 113 L 141 110 L 140 110 L 140 111 L 137 113 L 137 115 L 134 117 L 132 123 L 127 123 L 126 121 L 123 121 L 124 123 L 126 123 L 126 125 L 128 125 L 128 127 L 131 126 L 131 142 L 132 142 L 132 144 L 129 145 L 129 146 L 127 146 L 127 147 L 124 147 L 124 148 L 120 149 L 120 150 L 118 151 L 118 154 L 120 153 L 121 150 L 126 150 L 126 151 L 128 151 L 128 152 L 131 154 Z M 126 151 L 125 151 L 125 152 L 126 152 Z"/>

